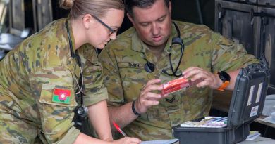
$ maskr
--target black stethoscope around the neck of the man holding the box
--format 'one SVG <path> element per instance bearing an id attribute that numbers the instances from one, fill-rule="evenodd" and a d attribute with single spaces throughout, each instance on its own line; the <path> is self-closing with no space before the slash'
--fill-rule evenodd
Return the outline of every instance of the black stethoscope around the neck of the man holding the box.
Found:
<path id="1" fill-rule="evenodd" d="M 173 25 L 175 25 L 175 28 L 176 28 L 176 31 L 177 31 L 178 35 L 177 35 L 177 37 L 173 37 L 171 46 L 173 46 L 173 44 L 181 45 L 181 57 L 180 57 L 180 60 L 178 61 L 178 65 L 176 67 L 176 70 L 174 70 L 173 65 L 172 65 L 172 60 L 171 60 L 171 53 L 169 53 L 169 62 L 170 62 L 170 67 L 171 67 L 172 74 L 169 74 L 166 70 L 162 70 L 162 72 L 164 74 L 169 75 L 169 76 L 181 77 L 183 74 L 176 74 L 176 72 L 178 72 L 178 67 L 181 65 L 181 59 L 183 58 L 183 51 L 184 51 L 185 46 L 183 44 L 183 39 L 181 39 L 181 32 L 178 29 L 178 25 L 176 25 L 175 22 L 173 22 Z M 171 46 L 170 46 L 170 49 L 171 49 Z M 154 72 L 154 63 L 151 63 L 148 60 L 146 60 L 146 61 L 147 61 L 147 63 L 145 64 L 146 72 Z"/>

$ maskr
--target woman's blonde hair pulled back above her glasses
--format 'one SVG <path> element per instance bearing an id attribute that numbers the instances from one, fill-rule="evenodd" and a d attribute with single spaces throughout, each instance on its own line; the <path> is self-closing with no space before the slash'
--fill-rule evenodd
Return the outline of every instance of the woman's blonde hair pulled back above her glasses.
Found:
<path id="1" fill-rule="evenodd" d="M 59 0 L 59 6 L 71 9 L 70 16 L 74 19 L 85 14 L 101 18 L 109 8 L 124 11 L 122 0 Z"/>

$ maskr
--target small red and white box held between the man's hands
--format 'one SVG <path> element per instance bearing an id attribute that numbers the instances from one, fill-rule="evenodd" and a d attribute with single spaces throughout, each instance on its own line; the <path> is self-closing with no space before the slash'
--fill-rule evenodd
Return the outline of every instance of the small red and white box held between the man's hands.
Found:
<path id="1" fill-rule="evenodd" d="M 176 91 L 179 91 L 181 89 L 184 89 L 188 86 L 190 86 L 191 81 L 188 79 L 184 79 L 183 77 L 180 77 L 178 79 L 174 79 L 172 81 L 169 81 L 165 84 L 162 84 L 163 88 L 161 91 L 162 95 L 170 94 Z"/>

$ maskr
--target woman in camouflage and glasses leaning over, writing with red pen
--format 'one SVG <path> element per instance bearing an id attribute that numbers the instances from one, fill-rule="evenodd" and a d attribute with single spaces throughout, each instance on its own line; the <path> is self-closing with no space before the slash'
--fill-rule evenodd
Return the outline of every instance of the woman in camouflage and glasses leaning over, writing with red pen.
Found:
<path id="1" fill-rule="evenodd" d="M 51 22 L 0 62 L 0 143 L 140 143 L 137 138 L 113 141 L 102 66 L 92 47 L 116 39 L 123 2 L 59 2 L 71 8 L 70 17 Z M 73 110 L 88 113 L 102 140 L 75 129 Z"/>

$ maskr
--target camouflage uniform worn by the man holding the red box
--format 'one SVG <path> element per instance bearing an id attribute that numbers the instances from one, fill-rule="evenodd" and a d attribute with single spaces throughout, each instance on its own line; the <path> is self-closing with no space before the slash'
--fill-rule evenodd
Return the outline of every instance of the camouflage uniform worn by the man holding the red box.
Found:
<path id="1" fill-rule="evenodd" d="M 176 24 L 185 44 L 183 60 L 177 74 L 188 67 L 201 67 L 209 72 L 218 72 L 237 70 L 251 63 L 258 63 L 254 56 L 247 55 L 243 46 L 221 37 L 206 26 L 187 22 L 176 22 Z M 162 72 L 166 70 L 172 73 L 169 53 L 171 53 L 174 69 L 178 65 L 181 47 L 169 48 L 172 36 L 177 36 L 174 25 L 172 25 L 171 37 L 159 60 L 138 38 L 134 27 L 120 34 L 115 41 L 111 41 L 104 48 L 99 59 L 102 60 L 106 77 L 104 85 L 109 93 L 109 106 L 117 107 L 137 99 L 142 86 L 149 79 L 159 78 L 161 83 L 165 83 L 177 78 Z M 144 65 L 147 60 L 155 65 L 152 73 L 145 71 Z M 123 130 L 128 136 L 142 140 L 172 138 L 172 126 L 209 114 L 212 104 L 211 92 L 208 87 L 194 86 L 186 91 L 173 93 L 168 98 L 161 99 L 159 105 L 150 107 L 145 114 L 128 124 Z"/>

